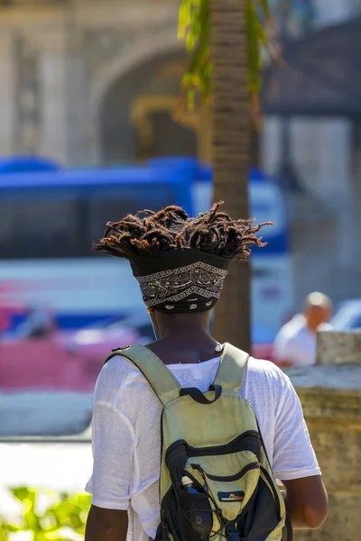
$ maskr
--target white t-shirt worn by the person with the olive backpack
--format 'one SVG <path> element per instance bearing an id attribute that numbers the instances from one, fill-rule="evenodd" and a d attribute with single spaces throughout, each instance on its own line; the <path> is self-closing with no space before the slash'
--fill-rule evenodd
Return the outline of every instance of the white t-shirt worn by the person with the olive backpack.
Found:
<path id="1" fill-rule="evenodd" d="M 219 358 L 169 368 L 183 387 L 205 392 Z M 282 481 L 319 475 L 300 400 L 272 362 L 250 358 L 242 396 L 255 410 L 273 472 Z M 116 356 L 100 372 L 94 399 L 93 474 L 86 491 L 104 509 L 127 509 L 127 541 L 148 541 L 159 523 L 162 405 L 132 362 Z"/>

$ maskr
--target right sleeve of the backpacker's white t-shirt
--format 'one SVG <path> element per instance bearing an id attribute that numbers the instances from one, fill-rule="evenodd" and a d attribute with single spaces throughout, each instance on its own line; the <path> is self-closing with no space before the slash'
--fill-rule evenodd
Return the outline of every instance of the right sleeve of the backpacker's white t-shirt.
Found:
<path id="1" fill-rule="evenodd" d="M 300 399 L 290 379 L 280 373 L 280 395 L 275 408 L 273 472 L 280 481 L 319 475 Z"/>

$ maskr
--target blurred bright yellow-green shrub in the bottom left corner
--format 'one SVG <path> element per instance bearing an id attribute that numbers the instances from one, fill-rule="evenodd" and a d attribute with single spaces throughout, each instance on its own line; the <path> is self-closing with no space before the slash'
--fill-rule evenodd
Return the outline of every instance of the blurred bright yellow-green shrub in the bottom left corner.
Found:
<path id="1" fill-rule="evenodd" d="M 88 494 L 11 490 L 21 506 L 18 518 L 0 516 L 0 541 L 77 541 L 85 533 L 90 507 Z"/>

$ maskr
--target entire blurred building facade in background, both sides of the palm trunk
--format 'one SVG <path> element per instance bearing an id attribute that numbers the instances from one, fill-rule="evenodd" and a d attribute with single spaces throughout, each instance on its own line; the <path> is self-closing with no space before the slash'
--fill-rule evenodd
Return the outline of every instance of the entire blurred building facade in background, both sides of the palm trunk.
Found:
<path id="1" fill-rule="evenodd" d="M 271 2 L 280 18 L 291 4 Z M 338 23 L 360 4 L 293 0 L 287 31 L 297 36 Z M 175 154 L 209 160 L 207 115 L 201 129 L 172 119 L 186 66 L 178 7 L 178 0 L 0 0 L 1 154 L 35 153 L 68 165 Z M 353 297 L 361 263 L 360 130 L 342 117 L 290 124 L 292 165 L 307 192 L 292 196 L 300 200 L 291 210 L 296 301 L 310 289 Z M 265 118 L 261 147 L 265 170 L 277 174 L 277 116 Z"/>

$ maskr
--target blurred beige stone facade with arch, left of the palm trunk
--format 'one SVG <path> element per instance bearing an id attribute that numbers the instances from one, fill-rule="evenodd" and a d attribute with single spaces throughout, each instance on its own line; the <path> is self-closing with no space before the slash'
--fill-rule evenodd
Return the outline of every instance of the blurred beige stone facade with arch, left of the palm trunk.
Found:
<path id="1" fill-rule="evenodd" d="M 174 153 L 173 138 L 197 153 L 197 136 L 171 122 L 185 67 L 177 17 L 169 0 L 0 3 L 1 153 L 97 164 Z"/>

